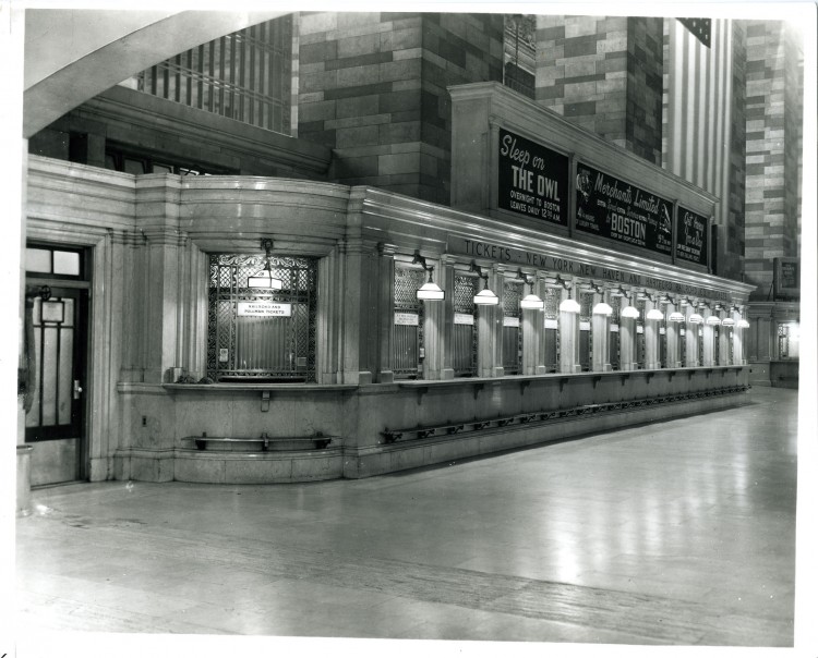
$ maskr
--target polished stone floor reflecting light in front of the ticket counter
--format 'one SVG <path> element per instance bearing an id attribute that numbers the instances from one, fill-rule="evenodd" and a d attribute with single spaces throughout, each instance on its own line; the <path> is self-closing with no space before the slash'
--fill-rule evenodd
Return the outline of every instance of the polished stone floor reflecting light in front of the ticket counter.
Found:
<path id="1" fill-rule="evenodd" d="M 797 392 L 364 480 L 39 489 L 17 634 L 793 644 Z"/>

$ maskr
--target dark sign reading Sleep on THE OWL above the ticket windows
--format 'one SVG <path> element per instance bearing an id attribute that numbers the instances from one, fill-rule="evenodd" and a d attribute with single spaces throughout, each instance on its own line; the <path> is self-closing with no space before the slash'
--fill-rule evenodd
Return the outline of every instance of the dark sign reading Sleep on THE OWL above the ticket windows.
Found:
<path id="1" fill-rule="evenodd" d="M 497 207 L 568 226 L 568 158 L 500 131 Z"/>

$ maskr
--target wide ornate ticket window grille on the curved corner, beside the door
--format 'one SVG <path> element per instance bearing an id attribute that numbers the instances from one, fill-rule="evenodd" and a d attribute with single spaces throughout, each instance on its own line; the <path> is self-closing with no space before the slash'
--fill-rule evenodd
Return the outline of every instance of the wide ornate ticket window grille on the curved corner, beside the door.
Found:
<path id="1" fill-rule="evenodd" d="M 315 381 L 317 259 L 270 257 L 282 289 L 249 288 L 264 256 L 209 258 L 207 376 L 216 381 Z"/>

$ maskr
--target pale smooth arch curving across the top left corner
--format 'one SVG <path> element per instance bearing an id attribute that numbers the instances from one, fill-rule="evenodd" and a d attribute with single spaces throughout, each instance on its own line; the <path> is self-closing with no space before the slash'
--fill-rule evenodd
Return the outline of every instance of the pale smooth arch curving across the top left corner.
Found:
<path id="1" fill-rule="evenodd" d="M 189 48 L 288 12 L 25 12 L 23 136 Z"/>

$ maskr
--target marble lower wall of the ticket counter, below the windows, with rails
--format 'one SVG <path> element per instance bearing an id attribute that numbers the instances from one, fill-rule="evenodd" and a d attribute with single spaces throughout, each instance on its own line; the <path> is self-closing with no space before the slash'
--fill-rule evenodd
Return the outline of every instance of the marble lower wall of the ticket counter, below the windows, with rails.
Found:
<path id="1" fill-rule="evenodd" d="M 715 366 L 361 386 L 122 383 L 132 446 L 117 451 L 115 477 L 368 477 L 736 406 L 747 377 L 746 366 Z M 197 448 L 202 436 L 213 444 Z M 282 449 L 263 449 L 261 437 Z"/>

